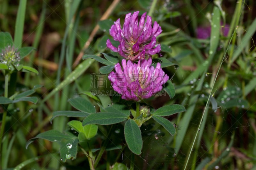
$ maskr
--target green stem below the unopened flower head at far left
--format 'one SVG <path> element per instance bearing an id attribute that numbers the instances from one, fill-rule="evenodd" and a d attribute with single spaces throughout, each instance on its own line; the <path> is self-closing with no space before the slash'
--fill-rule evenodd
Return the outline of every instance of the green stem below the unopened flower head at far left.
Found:
<path id="1" fill-rule="evenodd" d="M 7 73 L 4 78 L 4 97 L 8 98 L 8 82 L 9 82 L 9 74 Z M 2 155 L 2 139 L 4 135 L 4 126 L 5 126 L 5 119 L 7 115 L 7 107 L 4 108 L 3 118 L 2 118 L 2 125 L 1 125 L 1 132 L 0 132 L 0 155 Z M 1 159 L 0 159 L 1 160 Z M 0 168 L 1 169 L 1 168 Z"/>

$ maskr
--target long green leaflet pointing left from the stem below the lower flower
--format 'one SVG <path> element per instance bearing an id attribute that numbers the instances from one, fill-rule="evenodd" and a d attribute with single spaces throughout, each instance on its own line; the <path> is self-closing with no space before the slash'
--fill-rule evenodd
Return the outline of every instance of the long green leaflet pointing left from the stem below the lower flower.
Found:
<path id="1" fill-rule="evenodd" d="M 101 112 L 101 113 L 93 113 L 88 115 L 84 121 L 83 126 L 88 124 L 115 124 L 119 122 L 123 122 L 128 119 L 128 116 L 123 113 L 111 113 L 111 112 Z"/>

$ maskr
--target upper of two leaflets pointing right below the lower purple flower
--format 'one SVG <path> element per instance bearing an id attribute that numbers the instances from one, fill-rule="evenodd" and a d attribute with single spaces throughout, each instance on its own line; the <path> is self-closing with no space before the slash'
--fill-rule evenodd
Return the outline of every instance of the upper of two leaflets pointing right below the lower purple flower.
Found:
<path id="1" fill-rule="evenodd" d="M 153 115 L 169 116 L 184 111 L 186 111 L 185 107 L 183 107 L 182 105 L 174 104 L 158 108 L 155 112 L 153 112 Z"/>

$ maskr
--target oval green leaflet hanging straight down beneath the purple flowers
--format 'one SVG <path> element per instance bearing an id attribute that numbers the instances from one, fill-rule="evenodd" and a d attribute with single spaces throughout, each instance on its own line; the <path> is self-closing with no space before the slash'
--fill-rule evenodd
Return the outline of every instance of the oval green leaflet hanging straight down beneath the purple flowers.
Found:
<path id="1" fill-rule="evenodd" d="M 140 127 L 132 119 L 124 125 L 124 137 L 128 148 L 135 154 L 140 155 L 142 149 L 142 137 Z"/>

